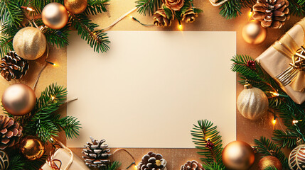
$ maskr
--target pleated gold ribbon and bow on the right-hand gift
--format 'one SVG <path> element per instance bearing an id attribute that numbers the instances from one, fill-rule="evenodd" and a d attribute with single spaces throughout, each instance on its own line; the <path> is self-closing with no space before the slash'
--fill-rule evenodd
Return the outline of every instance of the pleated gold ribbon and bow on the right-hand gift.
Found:
<path id="1" fill-rule="evenodd" d="M 305 19 L 296 23 L 305 33 Z M 305 44 L 305 39 L 304 43 Z M 287 86 L 290 84 L 294 91 L 304 91 L 305 89 L 305 48 L 303 46 L 297 45 L 294 38 L 286 33 L 280 40 L 273 45 L 274 49 L 281 52 L 282 55 L 291 59 L 291 63 L 288 68 L 281 72 L 275 79 L 279 81 L 282 86 Z"/>

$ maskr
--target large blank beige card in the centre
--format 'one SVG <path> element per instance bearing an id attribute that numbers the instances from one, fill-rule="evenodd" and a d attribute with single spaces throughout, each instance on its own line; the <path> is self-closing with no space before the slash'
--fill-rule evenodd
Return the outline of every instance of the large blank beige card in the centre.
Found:
<path id="1" fill-rule="evenodd" d="M 110 50 L 93 52 L 73 33 L 68 46 L 68 115 L 109 147 L 193 148 L 197 120 L 236 140 L 235 32 L 110 31 Z"/>

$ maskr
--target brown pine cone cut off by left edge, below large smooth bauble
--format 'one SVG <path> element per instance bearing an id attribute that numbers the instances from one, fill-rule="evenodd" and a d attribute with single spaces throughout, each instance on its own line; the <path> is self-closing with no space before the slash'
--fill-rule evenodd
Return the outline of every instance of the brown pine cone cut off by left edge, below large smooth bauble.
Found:
<path id="1" fill-rule="evenodd" d="M 13 147 L 22 136 L 22 127 L 7 115 L 0 115 L 0 149 Z"/>

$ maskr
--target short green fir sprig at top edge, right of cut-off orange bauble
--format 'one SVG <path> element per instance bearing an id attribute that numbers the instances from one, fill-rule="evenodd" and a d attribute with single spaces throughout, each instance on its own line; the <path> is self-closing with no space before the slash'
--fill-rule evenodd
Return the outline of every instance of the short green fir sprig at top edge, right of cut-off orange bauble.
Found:
<path id="1" fill-rule="evenodd" d="M 88 0 L 87 8 L 83 13 L 86 15 L 96 15 L 97 13 L 106 12 L 107 8 L 105 3 L 109 1 L 110 0 Z"/>

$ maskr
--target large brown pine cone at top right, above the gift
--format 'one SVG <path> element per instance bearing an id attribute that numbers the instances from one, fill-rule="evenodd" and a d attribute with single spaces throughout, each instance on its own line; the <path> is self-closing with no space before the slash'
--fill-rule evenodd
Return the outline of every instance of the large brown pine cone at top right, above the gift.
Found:
<path id="1" fill-rule="evenodd" d="M 287 0 L 257 0 L 253 6 L 253 18 L 264 28 L 281 28 L 290 18 L 288 6 Z"/>

